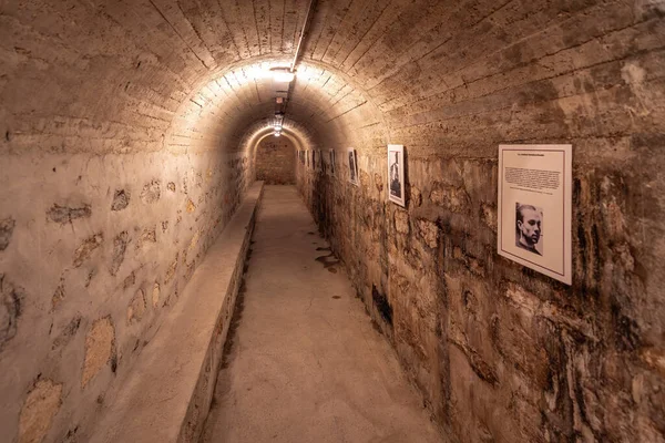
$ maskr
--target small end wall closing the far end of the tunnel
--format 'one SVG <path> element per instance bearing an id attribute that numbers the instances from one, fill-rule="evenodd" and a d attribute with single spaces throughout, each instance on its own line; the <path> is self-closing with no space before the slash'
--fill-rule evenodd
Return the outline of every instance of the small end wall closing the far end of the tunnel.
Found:
<path id="1" fill-rule="evenodd" d="M 268 136 L 256 151 L 256 179 L 266 185 L 296 183 L 296 150 L 286 137 Z"/>

